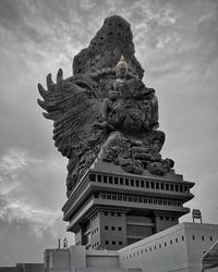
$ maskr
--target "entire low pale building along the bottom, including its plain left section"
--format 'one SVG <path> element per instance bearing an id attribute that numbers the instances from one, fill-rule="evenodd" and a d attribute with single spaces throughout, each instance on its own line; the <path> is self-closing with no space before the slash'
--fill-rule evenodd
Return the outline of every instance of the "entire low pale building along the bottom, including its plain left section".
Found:
<path id="1" fill-rule="evenodd" d="M 47 272 L 201 272 L 202 258 L 217 239 L 218 225 L 181 223 L 120 250 L 46 250 L 45 263 Z"/>

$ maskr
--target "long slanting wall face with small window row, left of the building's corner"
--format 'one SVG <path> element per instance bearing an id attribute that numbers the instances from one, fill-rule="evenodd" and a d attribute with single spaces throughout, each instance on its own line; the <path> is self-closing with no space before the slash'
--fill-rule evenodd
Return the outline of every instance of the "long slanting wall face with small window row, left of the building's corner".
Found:
<path id="1" fill-rule="evenodd" d="M 120 264 L 143 271 L 189 271 L 183 227 L 155 234 L 121 250 Z"/>

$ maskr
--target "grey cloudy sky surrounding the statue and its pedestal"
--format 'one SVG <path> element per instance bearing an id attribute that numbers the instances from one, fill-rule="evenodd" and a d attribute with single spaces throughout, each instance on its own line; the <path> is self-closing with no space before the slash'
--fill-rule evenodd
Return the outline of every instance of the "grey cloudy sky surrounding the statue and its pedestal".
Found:
<path id="1" fill-rule="evenodd" d="M 1 0 L 0 265 L 43 262 L 65 237 L 66 159 L 36 85 L 59 67 L 70 76 L 74 54 L 113 14 L 131 23 L 144 82 L 156 89 L 162 156 L 196 183 L 186 206 L 218 223 L 218 1 Z"/>

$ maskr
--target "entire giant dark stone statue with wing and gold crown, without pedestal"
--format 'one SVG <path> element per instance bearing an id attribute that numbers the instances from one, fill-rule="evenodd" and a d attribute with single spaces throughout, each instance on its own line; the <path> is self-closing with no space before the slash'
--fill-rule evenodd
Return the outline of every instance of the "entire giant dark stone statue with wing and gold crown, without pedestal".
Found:
<path id="1" fill-rule="evenodd" d="M 55 145 L 69 159 L 68 196 L 99 154 L 134 174 L 164 175 L 173 166 L 160 154 L 158 101 L 143 74 L 130 24 L 111 16 L 74 57 L 73 76 L 63 79 L 59 70 L 56 83 L 47 76 L 47 90 L 38 85 L 44 99 L 38 103 L 53 121 Z"/>

